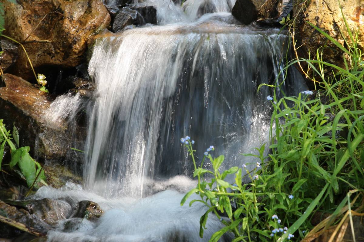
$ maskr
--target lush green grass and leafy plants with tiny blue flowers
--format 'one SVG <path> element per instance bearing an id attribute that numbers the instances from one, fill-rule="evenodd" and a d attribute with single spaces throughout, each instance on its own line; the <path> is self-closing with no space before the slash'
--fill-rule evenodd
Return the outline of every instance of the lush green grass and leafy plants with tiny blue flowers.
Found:
<path id="1" fill-rule="evenodd" d="M 206 205 L 200 220 L 201 237 L 208 216 L 214 213 L 225 226 L 210 241 L 218 241 L 225 233 L 231 233 L 234 242 L 308 242 L 321 235 L 329 241 L 342 241 L 347 228 L 355 241 L 353 217 L 364 216 L 363 53 L 357 33 L 351 33 L 348 25 L 346 48 L 313 28 L 343 51 L 345 68 L 325 62 L 322 49 L 317 50 L 316 60 L 298 58 L 286 65 L 283 71 L 306 62 L 320 83 L 315 92 L 303 91 L 297 97 L 267 97 L 273 107 L 271 140 L 265 144 L 269 154 L 263 145 L 257 148 L 259 155 L 245 154 L 242 167 L 220 173 L 224 157 L 211 156 L 213 147 L 206 151 L 201 167 L 196 167 L 194 142 L 189 137 L 181 140 L 193 159 L 193 176 L 198 178 L 197 187 L 181 204 L 197 193 L 200 199 L 190 205 Z M 324 74 L 326 68 L 333 70 L 332 75 Z M 249 156 L 260 160 L 252 171 L 246 169 Z M 203 169 L 205 159 L 210 160 L 213 171 Z M 211 180 L 204 179 L 207 173 Z M 235 184 L 226 181 L 227 175 L 235 176 Z"/>

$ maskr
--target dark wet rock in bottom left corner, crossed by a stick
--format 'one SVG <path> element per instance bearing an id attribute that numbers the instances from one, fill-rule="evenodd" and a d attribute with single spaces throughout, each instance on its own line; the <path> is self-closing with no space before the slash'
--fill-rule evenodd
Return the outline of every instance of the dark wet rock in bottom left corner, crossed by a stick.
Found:
<path id="1" fill-rule="evenodd" d="M 17 209 L 15 206 L 10 206 L 3 201 L 0 201 L 0 216 L 11 221 L 22 223 L 26 226 L 26 229 L 34 231 L 35 234 L 44 236 L 46 234 L 46 231 L 50 229 L 50 227 L 48 227 L 46 223 L 42 223 L 41 221 L 37 220 L 35 217 L 31 216 L 26 210 Z M 11 238 L 22 233 L 19 229 L 16 229 L 15 227 L 3 225 L 4 224 L 1 223 L 1 237 Z"/>

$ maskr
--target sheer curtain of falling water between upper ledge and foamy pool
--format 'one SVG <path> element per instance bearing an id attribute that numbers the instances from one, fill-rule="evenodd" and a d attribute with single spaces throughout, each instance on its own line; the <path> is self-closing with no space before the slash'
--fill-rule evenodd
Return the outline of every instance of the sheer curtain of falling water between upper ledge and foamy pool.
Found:
<path id="1" fill-rule="evenodd" d="M 239 153 L 268 139 L 269 94 L 257 86 L 274 84 L 283 67 L 278 31 L 219 22 L 132 29 L 100 41 L 89 66 L 98 92 L 89 188 L 99 181 L 105 196 L 142 196 L 148 179 L 190 175 L 183 134 L 198 141 L 197 154 L 214 144 L 226 166 L 238 165 Z M 290 85 L 288 77 L 286 93 Z"/>

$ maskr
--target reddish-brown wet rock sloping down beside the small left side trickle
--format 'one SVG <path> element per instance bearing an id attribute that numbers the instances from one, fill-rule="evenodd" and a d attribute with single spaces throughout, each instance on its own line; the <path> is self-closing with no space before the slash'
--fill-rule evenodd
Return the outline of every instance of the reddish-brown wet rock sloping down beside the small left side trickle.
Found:
<path id="1" fill-rule="evenodd" d="M 5 87 L 0 88 L 1 119 L 19 129 L 20 145 L 30 146 L 43 159 L 64 158 L 70 150 L 70 137 L 65 123 L 50 123 L 44 111 L 54 100 L 31 83 L 11 74 L 3 74 Z"/>

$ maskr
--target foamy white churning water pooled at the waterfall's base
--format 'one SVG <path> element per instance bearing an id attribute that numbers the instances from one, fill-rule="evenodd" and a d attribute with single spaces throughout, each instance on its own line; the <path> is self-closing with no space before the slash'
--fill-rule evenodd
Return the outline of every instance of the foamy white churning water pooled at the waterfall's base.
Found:
<path id="1" fill-rule="evenodd" d="M 191 207 L 188 205 L 190 200 L 198 198 L 197 195 L 180 206 L 183 196 L 183 193 L 165 190 L 143 199 L 105 199 L 82 190 L 79 185 L 67 183 L 62 189 L 42 187 L 33 198 L 52 198 L 67 202 L 72 207 L 79 201 L 92 200 L 105 212 L 97 222 L 82 218 L 60 221 L 54 230 L 48 232 L 48 241 L 208 241 L 215 231 L 222 228 L 221 221 L 209 216 L 205 236 L 199 238 L 199 218 L 206 208 L 199 203 Z M 231 235 L 226 234 L 220 241 L 230 240 Z"/>

